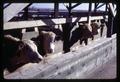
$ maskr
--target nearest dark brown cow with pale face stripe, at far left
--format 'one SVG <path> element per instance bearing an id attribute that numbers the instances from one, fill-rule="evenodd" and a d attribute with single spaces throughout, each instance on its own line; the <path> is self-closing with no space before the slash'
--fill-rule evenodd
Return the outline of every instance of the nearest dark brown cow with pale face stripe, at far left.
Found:
<path id="1" fill-rule="evenodd" d="M 29 62 L 38 63 L 43 57 L 32 40 L 20 40 L 11 35 L 4 35 L 3 59 L 4 69 L 13 72 Z"/>

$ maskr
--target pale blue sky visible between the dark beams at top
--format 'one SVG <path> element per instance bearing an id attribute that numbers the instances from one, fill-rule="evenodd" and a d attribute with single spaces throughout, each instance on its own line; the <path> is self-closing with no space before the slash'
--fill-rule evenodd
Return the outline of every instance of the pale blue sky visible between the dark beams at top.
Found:
<path id="1" fill-rule="evenodd" d="M 75 4 L 76 3 L 72 3 L 72 5 L 75 5 Z M 100 3 L 100 4 L 102 4 L 102 3 Z M 65 5 L 67 5 L 67 3 L 59 3 L 59 9 L 66 9 Z M 54 3 L 34 3 L 30 7 L 53 9 Z M 74 8 L 73 10 L 88 10 L 88 7 L 89 7 L 88 3 L 82 3 L 79 6 L 77 6 L 76 8 Z M 92 3 L 92 10 L 93 9 L 94 9 L 94 3 Z M 101 8 L 99 8 L 97 10 L 105 10 L 105 6 L 102 6 Z"/>

